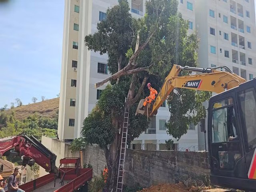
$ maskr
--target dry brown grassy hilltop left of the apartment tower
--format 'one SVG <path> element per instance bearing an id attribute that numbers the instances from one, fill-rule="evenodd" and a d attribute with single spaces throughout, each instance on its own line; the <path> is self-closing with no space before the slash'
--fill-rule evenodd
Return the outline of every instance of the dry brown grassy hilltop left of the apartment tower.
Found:
<path id="1" fill-rule="evenodd" d="M 49 99 L 42 102 L 15 107 L 7 112 L 11 113 L 13 111 L 15 113 L 15 118 L 18 120 L 23 120 L 33 114 L 53 118 L 59 109 L 59 101 L 60 98 Z"/>

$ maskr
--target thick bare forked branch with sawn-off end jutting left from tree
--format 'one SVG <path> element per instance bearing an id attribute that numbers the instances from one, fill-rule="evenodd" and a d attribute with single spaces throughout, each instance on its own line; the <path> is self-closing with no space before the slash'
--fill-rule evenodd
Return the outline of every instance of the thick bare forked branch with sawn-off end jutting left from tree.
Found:
<path id="1" fill-rule="evenodd" d="M 152 38 L 152 36 L 154 35 L 155 32 L 156 32 L 156 30 L 154 30 L 154 32 L 152 32 L 152 34 L 147 38 L 146 42 L 144 42 L 144 44 L 142 46 L 140 46 L 138 48 L 138 50 L 136 50 L 136 52 L 130 58 L 129 63 L 124 68 L 122 68 L 122 70 L 120 70 L 120 71 L 116 72 L 115 74 L 113 74 L 112 76 L 96 83 L 94 85 L 95 88 L 98 88 L 98 87 L 104 85 L 106 82 L 108 82 L 110 80 L 116 80 L 117 78 L 120 78 L 124 75 L 133 74 L 133 73 L 140 72 L 140 71 L 143 71 L 143 70 L 145 71 L 146 69 L 148 69 L 151 65 L 148 66 L 148 67 L 144 67 L 144 69 L 143 68 L 136 68 L 135 71 L 133 72 L 134 69 L 132 69 L 132 68 L 134 68 L 134 65 L 132 65 L 132 63 L 134 62 L 134 59 L 138 56 L 138 54 L 148 45 L 149 40 Z M 130 71 L 127 73 L 128 70 L 130 70 Z"/>

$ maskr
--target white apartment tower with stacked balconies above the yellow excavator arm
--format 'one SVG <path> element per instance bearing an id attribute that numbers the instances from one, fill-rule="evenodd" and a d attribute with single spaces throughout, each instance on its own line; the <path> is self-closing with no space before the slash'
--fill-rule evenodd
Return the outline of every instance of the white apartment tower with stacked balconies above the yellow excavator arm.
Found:
<path id="1" fill-rule="evenodd" d="M 246 80 L 255 78 L 254 0 L 196 0 L 195 8 L 200 66 L 225 65 Z M 204 143 L 200 130 L 198 142 Z"/>

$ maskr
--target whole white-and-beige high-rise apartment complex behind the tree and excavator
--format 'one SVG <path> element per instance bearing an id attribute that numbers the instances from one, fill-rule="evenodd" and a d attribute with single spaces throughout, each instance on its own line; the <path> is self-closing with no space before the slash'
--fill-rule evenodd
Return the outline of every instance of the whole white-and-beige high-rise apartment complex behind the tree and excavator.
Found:
<path id="1" fill-rule="evenodd" d="M 178 0 L 182 17 L 189 20 L 188 33 L 198 31 L 200 67 L 228 66 L 247 80 L 256 76 L 255 10 L 253 0 Z M 128 0 L 133 17 L 145 14 L 145 0 Z M 96 32 L 97 23 L 106 18 L 107 8 L 118 0 L 65 0 L 64 36 L 58 137 L 69 142 L 80 137 L 83 120 L 94 108 L 101 86 L 94 84 L 109 76 L 107 55 L 88 51 L 84 37 Z M 206 104 L 207 105 L 207 104 Z M 168 106 L 160 107 L 149 128 L 136 138 L 130 148 L 165 148 L 164 123 Z M 188 133 L 174 140 L 176 150 L 203 150 L 204 134 L 190 125 Z"/>

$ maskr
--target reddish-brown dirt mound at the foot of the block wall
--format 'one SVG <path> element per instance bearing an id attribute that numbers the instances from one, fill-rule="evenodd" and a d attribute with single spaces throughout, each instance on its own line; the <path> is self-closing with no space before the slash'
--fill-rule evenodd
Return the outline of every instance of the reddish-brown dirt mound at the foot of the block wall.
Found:
<path id="1" fill-rule="evenodd" d="M 189 192 L 182 183 L 178 184 L 159 184 L 138 192 Z"/>

